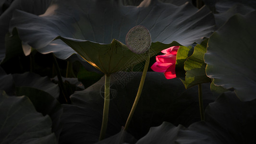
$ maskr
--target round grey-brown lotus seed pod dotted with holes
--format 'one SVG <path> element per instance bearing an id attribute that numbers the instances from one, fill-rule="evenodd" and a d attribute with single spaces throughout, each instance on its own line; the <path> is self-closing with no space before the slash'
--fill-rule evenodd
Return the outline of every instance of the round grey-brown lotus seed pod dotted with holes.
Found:
<path id="1" fill-rule="evenodd" d="M 134 53 L 142 54 L 151 46 L 151 36 L 145 26 L 133 27 L 125 37 L 126 46 Z"/>

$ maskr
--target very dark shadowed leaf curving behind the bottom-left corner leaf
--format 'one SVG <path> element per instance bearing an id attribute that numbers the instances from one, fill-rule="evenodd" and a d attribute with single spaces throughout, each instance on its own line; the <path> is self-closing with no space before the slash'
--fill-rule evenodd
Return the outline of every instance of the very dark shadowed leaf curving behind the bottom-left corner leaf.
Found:
<path id="1" fill-rule="evenodd" d="M 61 133 L 60 118 L 63 112 L 59 101 L 45 91 L 26 86 L 16 87 L 16 96 L 27 96 L 37 112 L 42 113 L 44 116 L 50 116 L 52 120 L 52 132 L 55 133 L 58 140 Z"/>

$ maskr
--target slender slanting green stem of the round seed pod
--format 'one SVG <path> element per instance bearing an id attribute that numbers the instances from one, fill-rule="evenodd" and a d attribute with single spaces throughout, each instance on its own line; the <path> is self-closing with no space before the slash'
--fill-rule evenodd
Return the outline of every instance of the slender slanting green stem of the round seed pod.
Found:
<path id="1" fill-rule="evenodd" d="M 132 117 L 134 115 L 134 111 L 135 111 L 135 108 L 137 107 L 137 104 L 138 104 L 138 101 L 140 99 L 140 95 L 141 95 L 141 92 L 142 92 L 142 88 L 143 88 L 143 85 L 144 85 L 144 82 L 145 82 L 145 78 L 146 78 L 146 72 L 147 72 L 147 69 L 148 69 L 148 65 L 149 65 L 149 51 L 147 52 L 147 56 L 146 56 L 146 63 L 145 63 L 145 66 L 144 66 L 144 70 L 143 70 L 143 73 L 142 73 L 142 76 L 141 76 L 141 80 L 140 80 L 140 85 L 139 85 L 139 89 L 138 89 L 138 92 L 137 92 L 137 95 L 135 97 L 135 100 L 134 100 L 134 105 L 131 109 L 131 112 L 128 116 L 128 119 L 125 123 L 125 126 L 124 126 L 124 131 L 127 131 L 128 130 L 128 126 L 132 120 Z"/>

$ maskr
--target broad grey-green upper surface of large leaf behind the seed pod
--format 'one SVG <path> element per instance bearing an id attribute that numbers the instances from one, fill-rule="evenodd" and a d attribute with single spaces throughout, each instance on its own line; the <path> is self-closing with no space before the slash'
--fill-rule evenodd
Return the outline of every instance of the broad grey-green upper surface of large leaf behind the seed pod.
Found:
<path id="1" fill-rule="evenodd" d="M 118 0 L 59 0 L 42 16 L 15 11 L 11 27 L 17 27 L 23 42 L 37 51 L 67 59 L 75 52 L 61 40 L 53 41 L 58 36 L 94 45 L 110 44 L 113 39 L 125 43 L 132 27 L 144 25 L 153 42 L 177 41 L 186 46 L 210 36 L 214 24 L 206 7 L 198 11 L 190 3 L 175 6 L 145 0 L 136 7 L 123 6 Z"/>

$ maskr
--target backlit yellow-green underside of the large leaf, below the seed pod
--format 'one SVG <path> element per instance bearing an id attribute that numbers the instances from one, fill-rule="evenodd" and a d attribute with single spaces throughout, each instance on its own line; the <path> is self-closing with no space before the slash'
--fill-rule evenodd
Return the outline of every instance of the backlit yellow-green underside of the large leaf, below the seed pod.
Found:
<path id="1" fill-rule="evenodd" d="M 111 74 L 121 70 L 131 69 L 135 64 L 145 61 L 147 54 L 136 54 L 126 45 L 113 39 L 111 44 L 98 44 L 90 41 L 77 42 L 60 37 L 65 43 L 73 48 L 87 62 L 105 74 Z M 177 44 L 154 44 L 149 52 L 150 56 L 156 55 L 164 48 Z"/>

